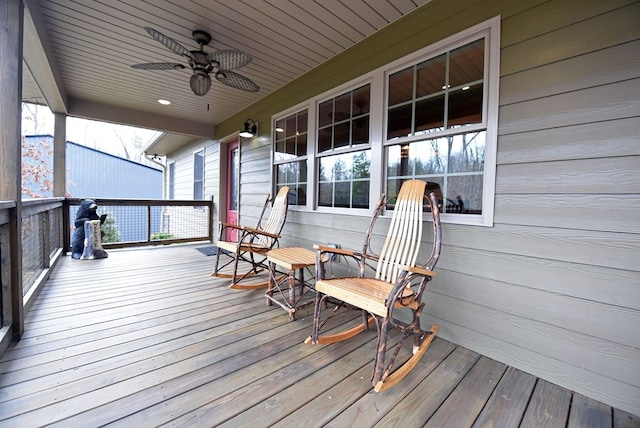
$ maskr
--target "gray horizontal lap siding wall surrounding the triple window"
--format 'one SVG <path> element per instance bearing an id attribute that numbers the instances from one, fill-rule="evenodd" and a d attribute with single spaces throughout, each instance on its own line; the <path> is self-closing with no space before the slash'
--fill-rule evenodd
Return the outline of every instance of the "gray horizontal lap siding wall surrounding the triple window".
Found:
<path id="1" fill-rule="evenodd" d="M 444 224 L 424 323 L 640 415 L 640 3 L 468 3 L 424 25 L 502 17 L 495 223 Z M 243 224 L 270 191 L 261 141 L 241 148 Z M 290 210 L 283 244 L 360 248 L 367 223 Z"/>

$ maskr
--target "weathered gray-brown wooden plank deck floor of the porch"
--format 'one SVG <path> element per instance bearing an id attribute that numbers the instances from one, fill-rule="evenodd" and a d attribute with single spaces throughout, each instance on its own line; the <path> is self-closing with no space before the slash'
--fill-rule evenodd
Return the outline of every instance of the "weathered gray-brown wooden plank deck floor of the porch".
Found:
<path id="1" fill-rule="evenodd" d="M 304 345 L 311 308 L 289 322 L 195 247 L 64 257 L 0 359 L 0 426 L 640 426 L 440 338 L 376 394 L 373 331 Z"/>

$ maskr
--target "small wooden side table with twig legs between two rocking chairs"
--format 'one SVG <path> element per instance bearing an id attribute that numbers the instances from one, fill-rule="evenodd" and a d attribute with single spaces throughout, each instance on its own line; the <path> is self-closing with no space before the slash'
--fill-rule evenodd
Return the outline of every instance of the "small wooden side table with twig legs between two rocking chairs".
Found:
<path id="1" fill-rule="evenodd" d="M 313 282 L 305 282 L 304 271 L 315 266 L 316 253 L 300 247 L 276 248 L 267 253 L 269 261 L 269 287 L 265 293 L 267 305 L 279 305 L 289 313 L 289 321 L 295 320 L 297 310 L 313 304 L 315 299 L 304 297 L 314 293 Z M 279 271 L 278 267 L 282 270 Z M 298 278 L 296 279 L 296 271 Z M 284 273 L 285 275 L 281 275 Z M 312 274 L 315 277 L 315 271 Z M 313 278 L 310 278 L 313 280 Z M 297 293 L 296 293 L 297 290 Z"/>

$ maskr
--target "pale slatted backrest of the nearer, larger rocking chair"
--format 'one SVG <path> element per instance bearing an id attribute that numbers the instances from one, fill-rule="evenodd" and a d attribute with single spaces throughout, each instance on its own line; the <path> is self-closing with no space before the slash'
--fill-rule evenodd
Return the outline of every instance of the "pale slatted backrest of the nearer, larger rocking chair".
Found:
<path id="1" fill-rule="evenodd" d="M 380 252 L 376 279 L 395 283 L 398 264 L 415 266 L 422 240 L 422 206 L 426 183 L 405 181 L 396 199 L 389 231 Z"/>

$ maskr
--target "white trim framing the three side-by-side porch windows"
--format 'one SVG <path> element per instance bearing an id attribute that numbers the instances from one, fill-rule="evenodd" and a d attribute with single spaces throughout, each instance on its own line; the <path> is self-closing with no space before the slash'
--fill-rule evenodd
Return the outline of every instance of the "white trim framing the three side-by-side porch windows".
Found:
<path id="1" fill-rule="evenodd" d="M 297 104 L 277 115 L 271 117 L 272 129 L 275 128 L 275 121 L 297 111 L 308 110 L 308 131 L 307 131 L 307 205 L 291 206 L 290 209 L 299 211 L 313 211 L 333 214 L 348 215 L 370 215 L 371 208 L 379 199 L 384 190 L 386 180 L 386 168 L 384 165 L 385 158 L 385 130 L 387 129 L 386 108 L 388 105 L 388 94 L 386 93 L 386 82 L 389 74 L 394 71 L 401 70 L 407 66 L 413 65 L 422 58 L 433 57 L 440 53 L 447 52 L 452 48 L 468 43 L 471 40 L 480 37 L 486 38 L 487 50 L 485 52 L 485 92 L 483 100 L 483 124 L 477 128 L 486 129 L 486 146 L 485 146 L 485 168 L 483 172 L 483 202 L 482 214 L 449 214 L 443 213 L 441 220 L 444 223 L 476 225 L 476 226 L 493 226 L 494 220 L 494 201 L 495 201 L 495 179 L 496 179 L 496 163 L 497 163 L 497 140 L 498 140 L 498 109 L 499 109 L 499 84 L 500 84 L 500 16 L 495 16 L 484 22 L 476 24 L 466 30 L 458 32 L 454 35 L 446 37 L 434 44 L 419 49 L 402 58 L 385 64 L 369 73 L 366 73 L 354 80 L 345 82 L 344 84 L 332 88 L 319 94 L 303 103 Z M 371 175 L 369 187 L 369 209 L 360 208 L 334 208 L 319 207 L 317 205 L 317 163 L 318 155 L 316 153 L 316 131 L 317 131 L 317 111 L 318 105 L 327 99 L 336 97 L 341 93 L 358 88 L 365 84 L 370 84 L 370 115 L 369 136 L 371 149 Z M 374 100 L 382 100 L 383 102 L 374 102 Z M 380 120 L 376 120 L 379 118 Z M 474 129 L 473 126 L 466 127 L 469 131 Z M 275 131 L 273 131 L 275 132 Z M 457 132 L 456 132 L 457 133 Z M 421 137 L 424 138 L 424 137 Z M 396 140 L 398 141 L 398 140 Z M 394 141 L 394 143 L 396 142 Z M 272 145 L 275 140 L 272 138 Z M 272 146 L 273 147 L 273 146 Z M 364 148 L 364 146 L 363 146 Z M 274 177 L 274 149 L 271 150 L 271 182 L 276 182 Z M 426 216 L 425 216 L 426 218 Z"/>

